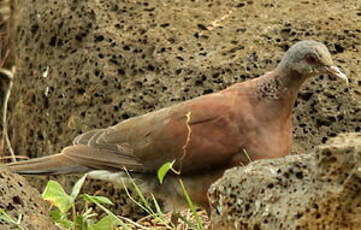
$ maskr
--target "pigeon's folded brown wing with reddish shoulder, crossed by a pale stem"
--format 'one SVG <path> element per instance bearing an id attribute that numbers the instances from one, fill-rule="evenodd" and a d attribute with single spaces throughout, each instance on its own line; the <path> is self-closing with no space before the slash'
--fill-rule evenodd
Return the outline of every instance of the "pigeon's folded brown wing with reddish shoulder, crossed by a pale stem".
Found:
<path id="1" fill-rule="evenodd" d="M 221 159 L 228 158 L 216 153 L 223 151 L 224 133 L 232 126 L 225 119 L 228 99 L 207 95 L 107 129 L 92 130 L 75 138 L 74 145 L 63 153 L 91 168 L 125 167 L 140 172 L 154 172 L 172 160 L 183 160 L 184 170 L 205 163 L 221 164 Z"/>

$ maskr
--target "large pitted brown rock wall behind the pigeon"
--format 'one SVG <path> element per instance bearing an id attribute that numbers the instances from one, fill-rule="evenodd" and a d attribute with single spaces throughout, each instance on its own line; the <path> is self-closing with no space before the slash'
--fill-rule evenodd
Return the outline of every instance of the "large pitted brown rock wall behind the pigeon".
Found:
<path id="1" fill-rule="evenodd" d="M 350 84 L 305 83 L 294 153 L 361 131 L 361 1 L 39 0 L 18 4 L 14 20 L 9 135 L 20 155 L 53 154 L 81 132 L 255 78 L 305 39 L 325 43 Z"/>

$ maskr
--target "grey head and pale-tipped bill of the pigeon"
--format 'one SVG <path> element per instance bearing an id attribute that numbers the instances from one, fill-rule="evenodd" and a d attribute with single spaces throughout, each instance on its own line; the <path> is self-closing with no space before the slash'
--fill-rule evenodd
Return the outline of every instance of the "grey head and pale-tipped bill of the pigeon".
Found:
<path id="1" fill-rule="evenodd" d="M 291 46 L 283 56 L 278 68 L 297 72 L 302 77 L 312 77 L 319 74 L 330 74 L 348 83 L 348 79 L 334 65 L 327 47 L 316 41 L 300 41 Z"/>

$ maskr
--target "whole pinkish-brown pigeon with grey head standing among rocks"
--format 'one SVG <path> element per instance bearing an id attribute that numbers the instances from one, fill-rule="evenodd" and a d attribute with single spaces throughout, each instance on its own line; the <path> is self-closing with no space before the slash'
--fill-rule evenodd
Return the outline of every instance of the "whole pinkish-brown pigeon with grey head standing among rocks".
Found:
<path id="1" fill-rule="evenodd" d="M 217 93 L 86 132 L 59 154 L 9 164 L 20 174 L 90 172 L 90 176 L 120 183 L 124 168 L 143 181 L 142 187 L 181 204 L 176 175 L 161 186 L 155 172 L 176 160 L 187 191 L 207 207 L 206 192 L 225 169 L 250 160 L 276 158 L 290 152 L 292 107 L 302 83 L 319 74 L 347 81 L 334 66 L 327 48 L 302 41 L 286 52 L 277 68 L 253 80 Z"/>

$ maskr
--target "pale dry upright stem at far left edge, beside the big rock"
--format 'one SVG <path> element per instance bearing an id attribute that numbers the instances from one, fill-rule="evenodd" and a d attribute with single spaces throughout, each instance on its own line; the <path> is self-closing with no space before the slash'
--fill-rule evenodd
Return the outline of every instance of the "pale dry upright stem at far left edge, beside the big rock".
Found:
<path id="1" fill-rule="evenodd" d="M 15 67 L 13 67 L 11 71 L 6 70 L 6 69 L 0 69 L 0 73 L 7 76 L 8 77 L 7 80 L 9 80 L 9 85 L 8 85 L 8 87 L 6 89 L 6 92 L 5 92 L 4 105 L 3 105 L 3 111 L 2 111 L 2 115 L 3 115 L 3 120 L 2 120 L 3 142 L 5 140 L 6 145 L 7 145 L 8 149 L 9 149 L 10 154 L 11 154 L 11 157 L 12 157 L 13 161 L 15 162 L 16 161 L 16 156 L 15 156 L 13 148 L 11 147 L 11 142 L 10 142 L 10 138 L 9 138 L 9 135 L 8 135 L 8 127 L 7 127 L 7 110 L 8 110 L 8 103 L 9 103 L 11 89 L 13 87 L 13 79 L 14 79 Z"/>

